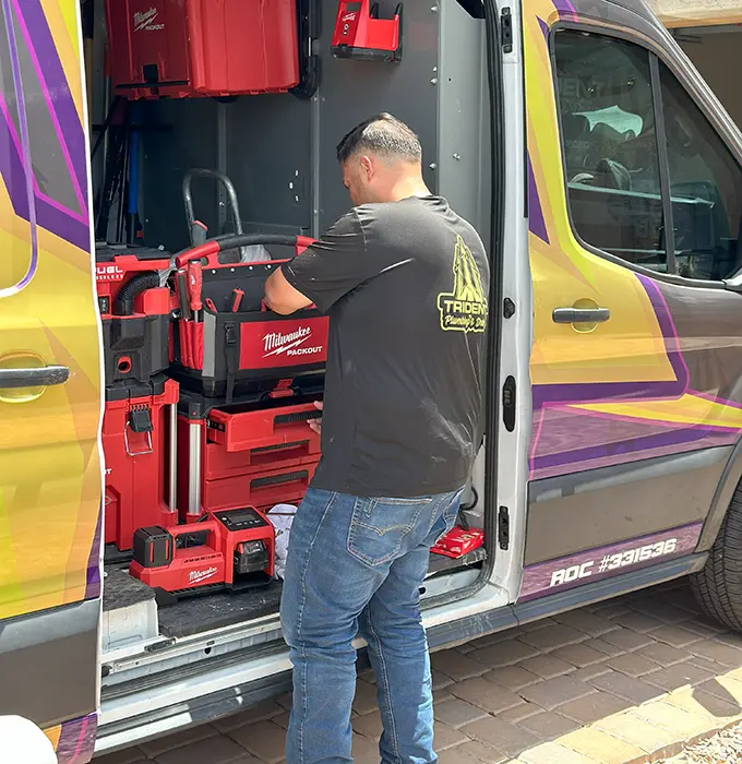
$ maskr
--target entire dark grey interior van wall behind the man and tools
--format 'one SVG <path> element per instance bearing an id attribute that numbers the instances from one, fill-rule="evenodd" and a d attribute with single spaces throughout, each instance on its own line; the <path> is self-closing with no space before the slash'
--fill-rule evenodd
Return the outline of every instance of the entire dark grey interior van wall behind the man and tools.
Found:
<path id="1" fill-rule="evenodd" d="M 318 95 L 140 102 L 145 130 L 140 211 L 145 242 L 188 246 L 181 183 L 191 167 L 232 179 L 246 230 L 316 234 L 349 205 L 335 158 L 348 130 L 390 111 L 420 135 L 426 181 L 487 240 L 489 140 L 483 24 L 455 0 L 407 2 L 398 63 L 335 59 L 337 0 L 321 0 Z M 396 0 L 381 0 L 391 15 Z M 222 117 L 219 116 L 222 112 Z M 220 122 L 222 119 L 222 122 Z M 219 231 L 216 186 L 195 180 L 196 217 Z M 228 228 L 229 230 L 229 228 Z"/>

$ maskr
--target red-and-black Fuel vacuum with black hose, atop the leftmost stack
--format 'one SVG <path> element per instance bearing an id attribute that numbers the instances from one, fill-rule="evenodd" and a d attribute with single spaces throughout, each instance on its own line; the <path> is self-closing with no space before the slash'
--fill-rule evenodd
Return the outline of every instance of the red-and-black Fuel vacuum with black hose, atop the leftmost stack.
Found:
<path id="1" fill-rule="evenodd" d="M 146 382 L 169 363 L 170 254 L 96 246 L 95 259 L 106 384 Z"/>

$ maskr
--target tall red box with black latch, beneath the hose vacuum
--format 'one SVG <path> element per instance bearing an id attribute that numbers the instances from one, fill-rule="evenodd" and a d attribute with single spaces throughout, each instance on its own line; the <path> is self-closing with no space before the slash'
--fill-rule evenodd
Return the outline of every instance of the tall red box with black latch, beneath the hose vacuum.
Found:
<path id="1" fill-rule="evenodd" d="M 158 374 L 146 383 L 106 389 L 105 542 L 123 552 L 136 528 L 178 521 L 176 428 L 178 383 Z M 166 415 L 166 408 L 169 411 Z"/>

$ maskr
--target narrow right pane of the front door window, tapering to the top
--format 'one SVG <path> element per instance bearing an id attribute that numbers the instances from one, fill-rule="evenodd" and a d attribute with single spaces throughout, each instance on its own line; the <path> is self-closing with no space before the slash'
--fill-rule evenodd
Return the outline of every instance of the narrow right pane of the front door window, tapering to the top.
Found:
<path id="1" fill-rule="evenodd" d="M 660 82 L 678 273 L 720 280 L 742 264 L 742 170 L 663 63 Z"/>

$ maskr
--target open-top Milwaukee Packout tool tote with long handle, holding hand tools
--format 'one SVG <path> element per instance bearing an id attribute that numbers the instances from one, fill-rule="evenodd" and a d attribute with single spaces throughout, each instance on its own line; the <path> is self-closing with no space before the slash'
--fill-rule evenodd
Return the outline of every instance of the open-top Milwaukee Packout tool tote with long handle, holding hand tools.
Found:
<path id="1" fill-rule="evenodd" d="M 261 380 L 322 370 L 327 356 L 326 317 L 311 307 L 279 315 L 263 303 L 266 278 L 286 260 L 219 262 L 219 251 L 243 242 L 300 252 L 311 239 L 237 236 L 176 258 L 177 288 L 187 294 L 179 296 L 182 308 L 173 332 L 172 373 L 181 386 L 226 403 L 232 395 L 254 390 Z"/>

